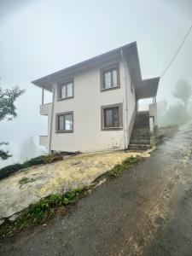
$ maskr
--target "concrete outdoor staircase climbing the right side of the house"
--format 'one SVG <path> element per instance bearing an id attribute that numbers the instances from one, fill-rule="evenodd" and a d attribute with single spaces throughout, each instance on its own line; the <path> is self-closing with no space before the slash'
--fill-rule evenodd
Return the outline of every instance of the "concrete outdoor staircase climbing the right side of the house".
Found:
<path id="1" fill-rule="evenodd" d="M 128 148 L 131 150 L 146 150 L 150 147 L 149 112 L 138 112 L 136 113 Z"/>

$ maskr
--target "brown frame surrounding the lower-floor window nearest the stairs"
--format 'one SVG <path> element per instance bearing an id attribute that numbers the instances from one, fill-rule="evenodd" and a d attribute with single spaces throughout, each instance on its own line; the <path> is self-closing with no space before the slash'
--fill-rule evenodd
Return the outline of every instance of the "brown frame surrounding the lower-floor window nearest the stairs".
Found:
<path id="1" fill-rule="evenodd" d="M 106 126 L 105 111 L 118 108 L 118 126 Z M 112 120 L 113 122 L 113 120 Z M 114 122 L 113 122 L 114 123 Z M 111 104 L 101 107 L 101 129 L 102 131 L 123 130 L 123 103 Z"/>

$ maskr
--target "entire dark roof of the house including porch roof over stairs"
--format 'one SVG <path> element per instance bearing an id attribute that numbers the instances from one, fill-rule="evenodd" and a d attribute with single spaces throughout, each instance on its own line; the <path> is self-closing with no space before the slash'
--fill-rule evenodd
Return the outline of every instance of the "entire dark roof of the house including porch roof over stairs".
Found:
<path id="1" fill-rule="evenodd" d="M 154 94 L 156 96 L 159 81 L 157 84 L 155 84 L 155 82 L 152 83 L 151 81 L 153 79 L 142 80 L 141 68 L 137 51 L 137 42 L 125 44 L 124 46 L 110 50 L 102 55 L 97 55 L 96 57 L 90 58 L 86 61 L 79 62 L 78 64 L 75 64 L 71 67 L 66 67 L 58 72 L 50 73 L 47 76 L 32 81 L 32 84 L 35 84 L 38 87 L 43 88 L 44 90 L 52 91 L 53 83 L 61 81 L 61 79 L 73 76 L 75 73 L 83 71 L 89 67 L 95 67 L 96 65 L 100 65 L 102 61 L 106 61 L 108 59 L 113 60 L 114 58 L 118 58 L 120 57 L 122 51 L 124 52 L 124 55 L 128 60 L 127 63 L 131 73 L 131 81 L 135 84 L 136 93 L 138 91 L 137 98 L 140 98 L 140 96 L 144 95 L 144 93 L 142 94 L 142 91 L 145 89 L 148 91 L 148 93 L 146 92 L 147 96 L 154 96 Z M 157 82 L 157 80 L 155 81 Z"/>

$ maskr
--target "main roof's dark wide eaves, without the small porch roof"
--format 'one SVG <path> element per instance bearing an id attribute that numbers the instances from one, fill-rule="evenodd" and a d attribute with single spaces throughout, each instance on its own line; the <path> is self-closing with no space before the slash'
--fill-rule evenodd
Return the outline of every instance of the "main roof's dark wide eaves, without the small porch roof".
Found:
<path id="1" fill-rule="evenodd" d="M 137 42 L 126 44 L 125 46 L 113 49 L 102 55 L 97 55 L 96 57 L 89 60 L 79 62 L 78 64 L 71 67 L 67 67 L 58 72 L 51 73 L 41 79 L 36 79 L 32 81 L 32 84 L 35 84 L 44 90 L 52 91 L 53 83 L 61 81 L 61 79 L 73 76 L 75 73 L 79 73 L 80 71 L 83 71 L 89 67 L 100 65 L 102 61 L 120 58 L 122 52 L 128 60 L 131 79 L 134 81 L 134 84 L 139 84 L 142 81 L 142 76 L 137 52 Z"/>

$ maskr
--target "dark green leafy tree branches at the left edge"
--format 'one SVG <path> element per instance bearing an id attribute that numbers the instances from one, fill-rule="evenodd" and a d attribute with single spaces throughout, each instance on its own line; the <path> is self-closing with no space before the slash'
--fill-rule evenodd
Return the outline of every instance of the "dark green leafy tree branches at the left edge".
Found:
<path id="1" fill-rule="evenodd" d="M 3 90 L 0 87 L 0 121 L 3 119 L 12 120 L 16 114 L 15 101 L 24 93 L 25 90 L 20 90 L 18 86 L 13 89 Z M 0 146 L 8 145 L 8 143 L 0 142 Z M 0 148 L 0 160 L 7 160 L 11 157 L 9 151 Z"/>

